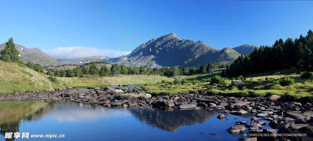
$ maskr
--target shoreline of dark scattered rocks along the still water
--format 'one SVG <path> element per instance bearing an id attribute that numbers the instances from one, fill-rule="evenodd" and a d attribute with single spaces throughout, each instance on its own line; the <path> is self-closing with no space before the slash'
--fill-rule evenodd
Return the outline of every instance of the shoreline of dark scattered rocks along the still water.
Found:
<path id="1" fill-rule="evenodd" d="M 251 118 L 250 123 L 238 121 L 235 126 L 227 129 L 228 133 L 242 134 L 248 128 L 250 138 L 242 138 L 243 141 L 256 140 L 313 140 L 313 103 L 300 103 L 289 101 L 285 96 L 271 95 L 263 97 L 228 97 L 220 95 L 187 94 L 151 96 L 143 90 L 127 88 L 125 91 L 95 88 L 88 92 L 75 93 L 71 87 L 55 91 L 34 91 L 28 93 L 15 93 L 0 95 L 1 101 L 73 101 L 83 103 L 98 103 L 105 107 L 142 106 L 179 109 L 207 109 L 220 110 L 220 113 L 234 115 L 255 114 L 258 118 Z M 223 120 L 224 114 L 217 116 Z M 268 120 L 273 129 L 263 129 L 266 124 L 262 120 Z M 278 132 L 275 130 L 278 129 Z M 269 136 L 260 136 L 260 135 Z M 305 136 L 304 136 L 305 134 Z M 276 136 L 274 136 L 276 135 Z M 283 136 L 284 135 L 284 136 Z M 286 136 L 288 135 L 288 136 Z M 301 135 L 301 136 L 300 136 Z"/>

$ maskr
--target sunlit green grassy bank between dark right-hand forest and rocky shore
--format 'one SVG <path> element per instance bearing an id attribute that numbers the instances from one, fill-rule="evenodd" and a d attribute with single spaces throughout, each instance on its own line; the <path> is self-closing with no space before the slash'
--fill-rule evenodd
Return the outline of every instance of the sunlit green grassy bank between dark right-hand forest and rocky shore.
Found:
<path id="1" fill-rule="evenodd" d="M 312 101 L 313 100 L 313 77 L 301 79 L 300 75 L 305 73 L 303 68 L 292 68 L 286 70 L 273 70 L 260 74 L 247 75 L 246 84 L 231 85 L 231 80 L 226 80 L 226 85 L 210 85 L 209 82 L 184 85 L 156 84 L 141 86 L 147 93 L 154 95 L 172 95 L 185 93 L 207 92 L 215 95 L 228 96 L 269 96 L 287 95 L 290 99 Z M 178 79 L 201 80 L 202 78 L 220 75 L 221 70 L 201 75 L 177 76 Z M 269 80 L 265 80 L 269 77 Z M 273 85 L 273 80 L 290 77 L 295 80 L 295 84 L 289 86 Z M 252 78 L 252 79 L 251 79 Z M 251 79 L 251 80 L 250 80 Z"/>

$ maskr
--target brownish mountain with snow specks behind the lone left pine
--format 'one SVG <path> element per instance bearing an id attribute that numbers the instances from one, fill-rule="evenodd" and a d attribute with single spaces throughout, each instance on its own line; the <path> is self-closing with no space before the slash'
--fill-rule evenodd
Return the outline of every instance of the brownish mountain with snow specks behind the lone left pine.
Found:
<path id="1" fill-rule="evenodd" d="M 19 55 L 21 59 L 28 62 L 31 61 L 34 64 L 40 64 L 42 66 L 49 66 L 49 65 L 63 65 L 64 63 L 57 61 L 57 59 L 47 55 L 43 51 L 38 48 L 29 49 L 19 44 L 15 44 L 16 49 L 19 51 Z M 5 43 L 0 45 L 0 50 L 5 48 Z"/>

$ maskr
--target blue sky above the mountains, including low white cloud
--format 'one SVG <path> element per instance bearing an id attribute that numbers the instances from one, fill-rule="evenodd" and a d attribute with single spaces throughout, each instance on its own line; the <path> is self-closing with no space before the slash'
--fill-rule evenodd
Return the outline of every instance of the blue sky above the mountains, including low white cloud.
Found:
<path id="1" fill-rule="evenodd" d="M 0 0 L 0 44 L 12 37 L 60 59 L 127 55 L 170 33 L 216 49 L 270 46 L 313 30 L 312 7 L 313 1 Z"/>

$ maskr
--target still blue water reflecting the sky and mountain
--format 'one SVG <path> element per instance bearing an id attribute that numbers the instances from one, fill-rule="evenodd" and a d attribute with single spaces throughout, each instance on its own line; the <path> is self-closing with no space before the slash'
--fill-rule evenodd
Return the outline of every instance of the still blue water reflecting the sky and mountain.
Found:
<path id="1" fill-rule="evenodd" d="M 60 101 L 50 103 L 0 101 L 0 141 L 7 132 L 29 132 L 29 138 L 7 140 L 236 140 L 242 135 L 231 135 L 226 129 L 236 121 L 250 122 L 251 114 L 229 120 L 217 119 L 217 110 L 155 109 L 133 107 L 110 109 L 97 104 Z M 234 119 L 238 118 L 238 119 Z M 265 121 L 265 120 L 263 120 Z M 266 125 L 268 121 L 265 121 Z M 263 128 L 270 129 L 269 126 Z M 247 132 L 248 129 L 246 129 Z M 245 133 L 246 133 L 245 132 Z M 203 134 L 201 134 L 203 133 Z M 32 134 L 64 134 L 64 138 L 31 138 Z"/>

